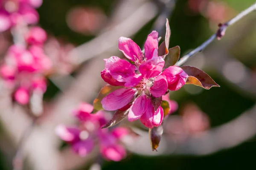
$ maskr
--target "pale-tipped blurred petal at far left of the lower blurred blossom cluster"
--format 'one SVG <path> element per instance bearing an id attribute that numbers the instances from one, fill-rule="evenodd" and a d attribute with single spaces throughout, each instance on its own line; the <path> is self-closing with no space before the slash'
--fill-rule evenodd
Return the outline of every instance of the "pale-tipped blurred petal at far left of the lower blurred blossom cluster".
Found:
<path id="1" fill-rule="evenodd" d="M 76 142 L 79 140 L 80 130 L 77 127 L 58 125 L 55 128 L 55 133 L 65 142 Z"/>

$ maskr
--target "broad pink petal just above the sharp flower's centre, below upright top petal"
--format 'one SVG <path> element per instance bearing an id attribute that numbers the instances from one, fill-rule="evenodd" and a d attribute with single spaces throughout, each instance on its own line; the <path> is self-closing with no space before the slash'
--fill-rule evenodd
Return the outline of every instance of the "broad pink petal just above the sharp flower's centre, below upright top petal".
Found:
<path id="1" fill-rule="evenodd" d="M 164 66 L 164 59 L 162 57 L 153 57 L 148 59 L 140 65 L 140 73 L 144 76 L 145 79 L 150 77 L 155 77 L 159 75 Z"/>

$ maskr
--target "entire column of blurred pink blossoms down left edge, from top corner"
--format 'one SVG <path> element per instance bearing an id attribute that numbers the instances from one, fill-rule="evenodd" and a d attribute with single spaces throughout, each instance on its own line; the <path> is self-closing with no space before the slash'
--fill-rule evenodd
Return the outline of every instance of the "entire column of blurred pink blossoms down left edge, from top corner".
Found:
<path id="1" fill-rule="evenodd" d="M 34 92 L 44 94 L 45 74 L 52 67 L 43 49 L 46 32 L 38 26 L 29 26 L 38 22 L 35 8 L 41 3 L 42 0 L 3 0 L 0 3 L 0 25 L 6 26 L 0 31 L 10 28 L 15 43 L 9 47 L 0 66 L 0 77 L 14 89 L 13 97 L 21 105 L 26 105 Z"/>

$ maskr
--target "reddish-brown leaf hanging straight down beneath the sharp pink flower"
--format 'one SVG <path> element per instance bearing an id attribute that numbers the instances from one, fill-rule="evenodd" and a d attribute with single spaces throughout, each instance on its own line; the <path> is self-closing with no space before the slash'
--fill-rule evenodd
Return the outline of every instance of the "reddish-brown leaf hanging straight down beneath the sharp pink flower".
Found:
<path id="1" fill-rule="evenodd" d="M 149 129 L 148 133 L 150 136 L 150 144 L 151 144 L 152 150 L 157 151 L 157 147 L 159 146 L 161 136 L 163 134 L 163 126 L 160 125 L 158 127 L 154 127 L 153 129 Z"/>

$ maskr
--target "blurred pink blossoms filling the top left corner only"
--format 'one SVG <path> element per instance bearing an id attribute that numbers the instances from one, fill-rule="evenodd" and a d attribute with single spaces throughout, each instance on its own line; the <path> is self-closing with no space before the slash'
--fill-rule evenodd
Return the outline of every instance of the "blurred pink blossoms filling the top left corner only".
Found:
<path id="1" fill-rule="evenodd" d="M 43 0 L 1 0 L 0 31 L 6 31 L 19 24 L 36 24 L 39 16 L 35 8 Z"/>

